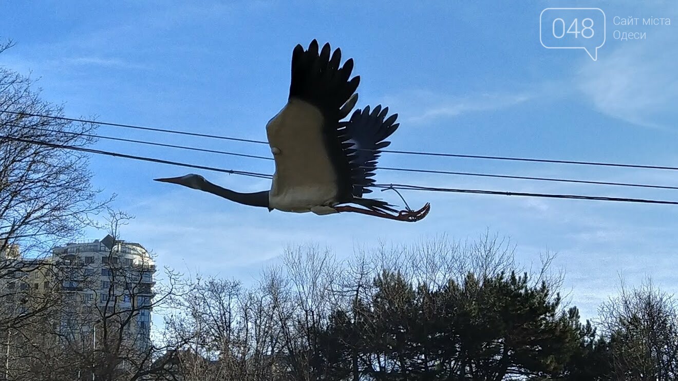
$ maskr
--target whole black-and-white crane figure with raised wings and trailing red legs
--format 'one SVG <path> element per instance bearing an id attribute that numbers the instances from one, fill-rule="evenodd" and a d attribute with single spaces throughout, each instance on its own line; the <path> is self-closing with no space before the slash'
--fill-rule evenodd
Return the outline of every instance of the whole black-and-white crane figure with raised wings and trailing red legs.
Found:
<path id="1" fill-rule="evenodd" d="M 238 193 L 197 174 L 155 180 L 266 207 L 269 212 L 356 212 L 400 221 L 421 220 L 431 209 L 428 203 L 416 211 L 398 211 L 386 201 L 363 198 L 372 192 L 368 187 L 374 184 L 380 150 L 391 144 L 385 139 L 399 123 L 395 123 L 397 114 L 388 116 L 388 107 L 381 105 L 357 109 L 342 121 L 357 102 L 360 77 L 351 78 L 353 58 L 343 66 L 340 62 L 341 50 L 332 52 L 329 43 L 319 49 L 313 40 L 308 49 L 302 45 L 294 48 L 290 96 L 266 125 L 275 159 L 270 190 Z"/>

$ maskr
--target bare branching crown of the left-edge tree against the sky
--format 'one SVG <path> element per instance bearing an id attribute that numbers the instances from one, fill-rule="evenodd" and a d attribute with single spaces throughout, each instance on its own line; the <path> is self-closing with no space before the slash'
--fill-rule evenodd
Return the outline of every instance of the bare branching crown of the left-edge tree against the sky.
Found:
<path id="1" fill-rule="evenodd" d="M 33 87 L 30 77 L 0 67 L 0 252 L 20 244 L 24 255 L 45 254 L 77 237 L 106 203 L 92 188 L 87 156 L 63 148 L 91 144 L 95 125 L 54 119 L 62 107 Z"/>

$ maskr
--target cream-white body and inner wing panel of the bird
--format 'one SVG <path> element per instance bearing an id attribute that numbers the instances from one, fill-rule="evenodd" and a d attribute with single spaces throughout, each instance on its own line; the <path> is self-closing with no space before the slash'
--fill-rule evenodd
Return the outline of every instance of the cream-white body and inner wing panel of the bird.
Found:
<path id="1" fill-rule="evenodd" d="M 327 156 L 323 115 L 313 104 L 290 99 L 266 125 L 275 158 L 270 207 L 284 212 L 331 214 L 337 176 Z"/>

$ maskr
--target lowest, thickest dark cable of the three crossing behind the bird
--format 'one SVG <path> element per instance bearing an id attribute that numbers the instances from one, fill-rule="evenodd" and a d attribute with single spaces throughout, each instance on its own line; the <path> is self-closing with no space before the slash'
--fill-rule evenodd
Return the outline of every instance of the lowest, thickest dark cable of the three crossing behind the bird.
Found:
<path id="1" fill-rule="evenodd" d="M 236 171 L 233 169 L 220 169 L 215 167 L 207 167 L 203 165 L 193 165 L 187 163 L 179 163 L 176 161 L 168 161 L 162 159 L 155 159 L 152 157 L 140 157 L 136 155 L 125 155 L 121 153 L 114 153 L 109 151 L 94 150 L 92 148 L 83 148 L 77 146 L 66 146 L 62 144 L 54 144 L 48 142 L 41 142 L 38 140 L 29 140 L 22 138 L 13 138 L 11 136 L 1 136 L 0 139 L 9 139 L 19 142 L 26 142 L 29 144 L 39 144 L 43 146 L 51 146 L 54 148 L 63 148 L 75 151 L 82 151 L 87 153 L 96 153 L 98 155 L 108 155 L 113 157 L 123 157 L 125 159 L 134 159 L 142 161 L 151 161 L 153 163 L 162 163 L 169 165 L 178 165 L 181 167 L 190 167 L 197 169 L 205 169 L 208 171 L 223 172 L 227 174 L 239 174 L 243 176 L 252 176 L 256 178 L 267 178 L 270 179 L 273 176 L 268 174 L 261 174 L 257 172 L 247 172 L 247 171 Z M 581 199 L 581 200 L 592 200 L 592 201 L 618 201 L 618 202 L 628 202 L 628 203 L 654 203 L 654 204 L 666 204 L 666 205 L 678 205 L 678 201 L 665 201 L 665 200 L 654 200 L 654 199 L 632 199 L 626 197 L 603 197 L 603 196 L 589 196 L 589 195 L 559 195 L 552 193 L 526 193 L 526 192 L 511 192 L 511 191 L 499 191 L 499 190 L 480 190 L 480 189 L 460 189 L 460 188 L 438 188 L 433 186 L 419 186 L 412 184 L 374 184 L 368 186 L 370 188 L 382 188 L 382 189 L 399 189 L 399 190 L 422 190 L 428 192 L 446 192 L 446 193 L 476 193 L 481 195 L 504 195 L 504 196 L 522 196 L 522 197 L 546 197 L 553 199 Z"/>

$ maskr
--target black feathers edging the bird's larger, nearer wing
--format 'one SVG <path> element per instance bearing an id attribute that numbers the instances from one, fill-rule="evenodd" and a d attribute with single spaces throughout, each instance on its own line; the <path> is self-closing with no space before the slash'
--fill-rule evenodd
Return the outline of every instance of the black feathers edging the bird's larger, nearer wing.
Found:
<path id="1" fill-rule="evenodd" d="M 319 50 L 318 42 L 311 41 L 308 49 L 297 45 L 292 52 L 292 81 L 290 100 L 293 98 L 313 104 L 323 114 L 323 136 L 327 155 L 337 174 L 338 195 L 350 194 L 353 188 L 350 178 L 342 176 L 351 172 L 342 148 L 340 131 L 340 108 L 355 93 L 360 77 L 351 78 L 353 59 L 340 66 L 341 50 L 332 53 L 329 43 Z"/>

